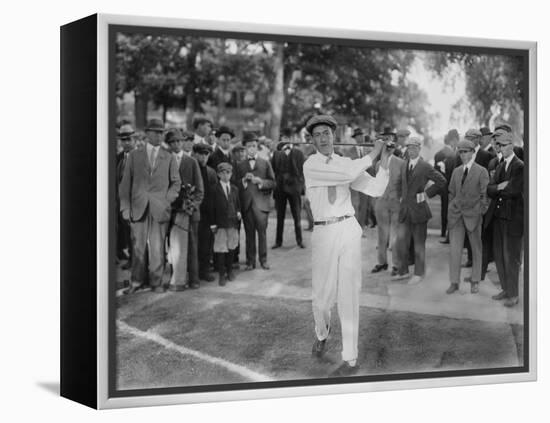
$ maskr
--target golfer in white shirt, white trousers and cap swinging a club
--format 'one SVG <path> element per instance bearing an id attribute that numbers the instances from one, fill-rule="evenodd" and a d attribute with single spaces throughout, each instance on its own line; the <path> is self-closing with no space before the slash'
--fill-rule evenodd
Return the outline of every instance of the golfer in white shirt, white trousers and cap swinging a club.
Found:
<path id="1" fill-rule="evenodd" d="M 330 332 L 331 308 L 338 303 L 342 327 L 343 363 L 332 376 L 352 375 L 359 369 L 357 342 L 361 291 L 361 226 L 354 218 L 350 188 L 372 197 L 388 184 L 386 163 L 375 178 L 365 172 L 380 155 L 383 141 L 373 151 L 351 160 L 334 154 L 336 120 L 329 115 L 312 117 L 306 130 L 317 152 L 304 163 L 306 195 L 311 202 L 315 229 L 311 237 L 313 318 L 317 339 L 312 355 L 321 358 Z"/>

